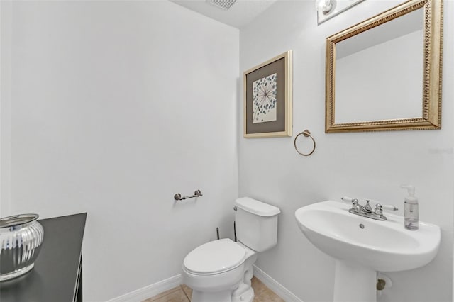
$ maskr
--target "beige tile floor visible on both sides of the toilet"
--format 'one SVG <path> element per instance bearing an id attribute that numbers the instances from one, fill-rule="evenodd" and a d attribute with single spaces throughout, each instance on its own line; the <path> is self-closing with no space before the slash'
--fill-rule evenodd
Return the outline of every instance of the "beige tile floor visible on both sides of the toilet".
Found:
<path id="1" fill-rule="evenodd" d="M 255 293 L 254 302 L 285 302 L 255 276 L 252 279 L 252 286 Z M 191 296 L 192 289 L 183 284 L 142 302 L 189 302 Z"/>

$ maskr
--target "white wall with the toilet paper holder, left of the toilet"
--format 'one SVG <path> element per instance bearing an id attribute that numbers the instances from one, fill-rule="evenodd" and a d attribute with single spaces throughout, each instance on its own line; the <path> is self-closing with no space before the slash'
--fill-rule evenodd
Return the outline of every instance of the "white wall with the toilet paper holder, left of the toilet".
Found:
<path id="1" fill-rule="evenodd" d="M 217 226 L 232 235 L 237 29 L 170 1 L 16 1 L 11 17 L 2 208 L 88 212 L 84 301 L 180 274 Z"/>

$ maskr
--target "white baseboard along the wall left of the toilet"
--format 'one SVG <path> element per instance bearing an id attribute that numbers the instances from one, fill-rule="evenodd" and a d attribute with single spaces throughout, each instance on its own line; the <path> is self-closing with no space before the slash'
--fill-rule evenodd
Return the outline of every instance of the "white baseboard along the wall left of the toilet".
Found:
<path id="1" fill-rule="evenodd" d="M 150 284 L 142 289 L 131 291 L 131 293 L 125 293 L 123 296 L 113 298 L 107 302 L 140 302 L 146 298 L 156 296 L 157 294 L 162 293 L 162 291 L 173 289 L 180 284 L 182 284 L 182 274 L 172 276 L 169 279 L 156 282 L 155 284 Z"/>

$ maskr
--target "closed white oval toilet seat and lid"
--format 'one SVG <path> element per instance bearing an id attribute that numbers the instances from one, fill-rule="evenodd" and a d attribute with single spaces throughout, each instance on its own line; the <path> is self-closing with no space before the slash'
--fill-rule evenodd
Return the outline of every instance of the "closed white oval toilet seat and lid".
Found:
<path id="1" fill-rule="evenodd" d="M 244 262 L 246 250 L 226 238 L 196 247 L 184 258 L 184 268 L 192 274 L 220 274 Z"/>

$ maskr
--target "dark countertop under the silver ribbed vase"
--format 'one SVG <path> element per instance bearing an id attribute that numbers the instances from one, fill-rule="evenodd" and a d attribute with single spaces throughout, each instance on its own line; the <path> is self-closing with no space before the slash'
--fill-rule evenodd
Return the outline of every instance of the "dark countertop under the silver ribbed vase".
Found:
<path id="1" fill-rule="evenodd" d="M 87 213 L 81 213 L 38 220 L 44 239 L 35 267 L 16 279 L 0 282 L 0 301 L 74 301 L 86 218 Z"/>

